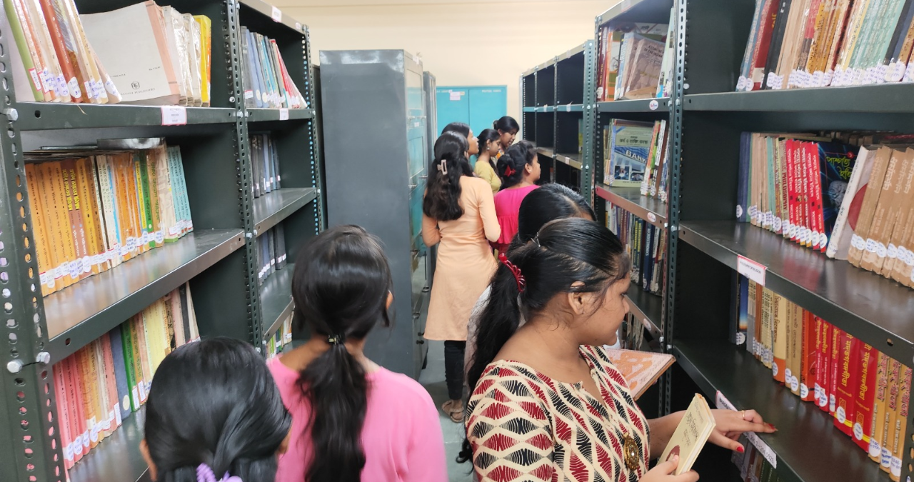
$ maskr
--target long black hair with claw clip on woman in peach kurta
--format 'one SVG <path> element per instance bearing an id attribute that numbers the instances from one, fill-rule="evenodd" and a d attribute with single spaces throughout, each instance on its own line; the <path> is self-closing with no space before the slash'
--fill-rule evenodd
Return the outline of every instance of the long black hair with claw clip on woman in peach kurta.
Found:
<path id="1" fill-rule="evenodd" d="M 473 176 L 466 158 L 466 137 L 446 132 L 435 141 L 435 158 L 429 167 L 422 212 L 440 221 L 457 220 L 463 216 L 460 205 L 462 176 Z"/>

